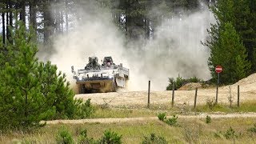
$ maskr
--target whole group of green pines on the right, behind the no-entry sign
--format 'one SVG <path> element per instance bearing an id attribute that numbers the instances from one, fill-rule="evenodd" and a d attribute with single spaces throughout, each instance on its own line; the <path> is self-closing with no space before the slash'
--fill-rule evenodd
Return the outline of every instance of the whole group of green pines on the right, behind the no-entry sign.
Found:
<path id="1" fill-rule="evenodd" d="M 222 83 L 234 83 L 256 72 L 256 1 L 218 1 L 211 7 L 216 24 L 212 24 L 210 41 L 205 45 L 211 50 L 210 71 L 222 65 Z"/>

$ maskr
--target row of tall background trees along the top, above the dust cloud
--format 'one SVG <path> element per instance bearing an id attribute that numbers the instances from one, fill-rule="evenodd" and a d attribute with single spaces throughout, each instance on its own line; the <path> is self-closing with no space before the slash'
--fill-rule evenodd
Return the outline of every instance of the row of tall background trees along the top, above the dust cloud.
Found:
<path id="1" fill-rule="evenodd" d="M 205 0 L 205 2 L 210 1 Z M 127 38 L 135 40 L 154 35 L 154 28 L 163 18 L 198 10 L 200 2 L 198 0 L 3 0 L 0 2 L 2 41 L 11 42 L 10 30 L 7 26 L 14 26 L 14 19 L 18 18 L 37 30 L 38 39 L 47 43 L 53 34 L 69 31 L 74 18 L 86 21 L 80 11 L 98 13 L 93 6 L 110 9 L 112 18 L 120 30 Z"/>

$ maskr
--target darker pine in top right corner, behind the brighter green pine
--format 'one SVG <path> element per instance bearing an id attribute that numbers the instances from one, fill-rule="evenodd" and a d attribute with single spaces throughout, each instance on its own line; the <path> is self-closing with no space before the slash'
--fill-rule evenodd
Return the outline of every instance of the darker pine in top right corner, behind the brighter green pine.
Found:
<path id="1" fill-rule="evenodd" d="M 212 7 L 218 24 L 231 22 L 246 47 L 246 58 L 251 64 L 250 73 L 256 72 L 256 27 L 255 27 L 255 0 L 226 0 L 218 1 Z M 250 74 L 249 73 L 249 74 Z"/>

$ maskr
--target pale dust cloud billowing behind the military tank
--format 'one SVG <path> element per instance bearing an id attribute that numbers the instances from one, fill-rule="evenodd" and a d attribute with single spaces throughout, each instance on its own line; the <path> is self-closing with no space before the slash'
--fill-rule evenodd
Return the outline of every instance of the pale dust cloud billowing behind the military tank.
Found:
<path id="1" fill-rule="evenodd" d="M 78 9 L 82 19 L 72 16 L 70 31 L 54 38 L 55 53 L 49 60 L 66 73 L 71 83 L 74 79 L 70 67 L 84 68 L 90 56 L 97 56 L 99 63 L 105 56 L 112 56 L 114 63 L 129 68 L 127 90 L 130 91 L 147 90 L 148 80 L 151 90 L 166 90 L 168 78 L 176 78 L 178 74 L 182 78 L 210 78 L 209 51 L 200 44 L 210 26 L 209 10 L 162 20 L 162 25 L 154 30 L 153 39 L 143 42 L 143 46 L 133 44 L 129 48 L 111 13 L 96 11 L 100 12 Z"/>

